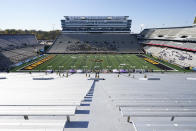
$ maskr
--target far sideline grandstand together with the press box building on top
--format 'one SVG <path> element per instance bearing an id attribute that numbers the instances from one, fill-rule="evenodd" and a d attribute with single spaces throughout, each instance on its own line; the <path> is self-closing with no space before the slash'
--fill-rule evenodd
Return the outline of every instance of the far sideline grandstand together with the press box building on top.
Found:
<path id="1" fill-rule="evenodd" d="M 142 53 L 128 16 L 65 16 L 47 53 Z"/>

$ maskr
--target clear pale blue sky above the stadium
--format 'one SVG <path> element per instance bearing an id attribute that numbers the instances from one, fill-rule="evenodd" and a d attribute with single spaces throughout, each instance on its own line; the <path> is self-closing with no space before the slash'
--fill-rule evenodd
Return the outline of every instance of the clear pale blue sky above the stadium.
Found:
<path id="1" fill-rule="evenodd" d="M 0 29 L 61 29 L 63 16 L 130 16 L 132 31 L 192 25 L 196 0 L 1 0 Z"/>

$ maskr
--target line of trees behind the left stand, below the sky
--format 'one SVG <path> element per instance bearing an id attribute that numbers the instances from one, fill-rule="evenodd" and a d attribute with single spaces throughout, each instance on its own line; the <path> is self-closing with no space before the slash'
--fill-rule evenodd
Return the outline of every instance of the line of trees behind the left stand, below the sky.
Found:
<path id="1" fill-rule="evenodd" d="M 55 38 L 60 34 L 60 30 L 54 31 L 37 31 L 37 30 L 15 30 L 6 29 L 0 30 L 0 34 L 34 34 L 38 40 L 55 40 Z"/>

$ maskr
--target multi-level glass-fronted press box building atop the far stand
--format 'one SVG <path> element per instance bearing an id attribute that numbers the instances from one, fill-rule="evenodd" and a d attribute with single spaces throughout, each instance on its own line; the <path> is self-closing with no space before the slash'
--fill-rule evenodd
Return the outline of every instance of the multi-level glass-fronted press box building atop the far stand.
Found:
<path id="1" fill-rule="evenodd" d="M 63 32 L 130 32 L 128 16 L 65 16 Z"/>

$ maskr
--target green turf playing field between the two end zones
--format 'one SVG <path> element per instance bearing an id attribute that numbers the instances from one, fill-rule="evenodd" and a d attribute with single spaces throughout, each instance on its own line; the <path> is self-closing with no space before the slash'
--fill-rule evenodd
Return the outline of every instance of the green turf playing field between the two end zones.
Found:
<path id="1" fill-rule="evenodd" d="M 25 65 L 26 66 L 26 65 Z M 153 69 L 161 70 L 135 54 L 59 54 L 32 70 Z"/>

